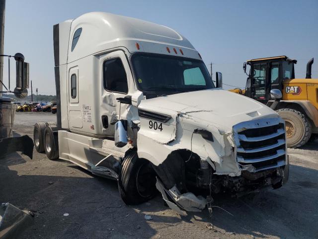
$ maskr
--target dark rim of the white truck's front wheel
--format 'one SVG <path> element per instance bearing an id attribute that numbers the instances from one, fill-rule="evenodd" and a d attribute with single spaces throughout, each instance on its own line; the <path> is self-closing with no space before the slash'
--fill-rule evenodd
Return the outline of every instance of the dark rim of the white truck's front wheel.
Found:
<path id="1" fill-rule="evenodd" d="M 144 163 L 139 167 L 136 183 L 140 196 L 147 198 L 153 195 L 156 177 L 154 177 L 153 170 L 148 163 Z"/>

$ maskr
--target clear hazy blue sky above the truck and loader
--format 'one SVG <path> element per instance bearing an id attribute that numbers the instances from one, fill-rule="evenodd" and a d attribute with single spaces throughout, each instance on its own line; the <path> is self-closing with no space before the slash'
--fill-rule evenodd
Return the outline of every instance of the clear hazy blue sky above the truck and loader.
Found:
<path id="1" fill-rule="evenodd" d="M 89 11 L 175 29 L 209 69 L 214 63 L 213 72 L 222 72 L 225 84 L 244 87 L 244 61 L 278 55 L 298 60 L 297 78 L 305 77 L 306 64 L 314 57 L 313 77 L 318 78 L 318 0 L 6 0 L 4 53 L 24 54 L 39 94 L 55 94 L 53 25 Z M 7 79 L 6 59 L 4 67 Z"/>

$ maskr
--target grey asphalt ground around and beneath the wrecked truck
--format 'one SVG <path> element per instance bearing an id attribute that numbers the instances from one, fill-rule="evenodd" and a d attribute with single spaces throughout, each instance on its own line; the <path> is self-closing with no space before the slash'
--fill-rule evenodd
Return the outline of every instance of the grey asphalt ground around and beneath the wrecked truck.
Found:
<path id="1" fill-rule="evenodd" d="M 55 119 L 51 113 L 18 112 L 15 135 L 33 137 L 35 122 Z M 215 197 L 214 206 L 233 216 L 215 207 L 212 218 L 206 209 L 183 217 L 164 206 L 160 195 L 127 206 L 116 181 L 51 161 L 35 149 L 33 159 L 12 153 L 0 160 L 0 202 L 34 212 L 23 239 L 318 238 L 318 142 L 288 152 L 290 178 L 283 187 L 239 199 Z"/>

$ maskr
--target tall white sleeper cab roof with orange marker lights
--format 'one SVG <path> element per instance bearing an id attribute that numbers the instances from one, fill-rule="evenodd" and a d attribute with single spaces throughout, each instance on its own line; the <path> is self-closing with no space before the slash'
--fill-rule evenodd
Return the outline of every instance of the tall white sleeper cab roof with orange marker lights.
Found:
<path id="1" fill-rule="evenodd" d="M 106 49 L 124 47 L 130 53 L 149 52 L 201 59 L 192 44 L 175 30 L 132 17 L 108 12 L 89 12 L 59 24 L 65 55 L 59 64 L 73 62 Z M 155 44 L 154 44 L 155 43 Z M 68 56 L 67 56 L 68 52 Z"/>

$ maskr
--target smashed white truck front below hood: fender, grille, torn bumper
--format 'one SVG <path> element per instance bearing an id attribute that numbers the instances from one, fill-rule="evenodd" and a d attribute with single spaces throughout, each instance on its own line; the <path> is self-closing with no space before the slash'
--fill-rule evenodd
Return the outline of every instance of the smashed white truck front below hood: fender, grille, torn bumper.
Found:
<path id="1" fill-rule="evenodd" d="M 179 214 L 209 208 L 213 195 L 221 192 L 241 196 L 266 186 L 279 188 L 288 180 L 285 127 L 279 117 L 227 128 L 203 119 L 212 111 L 187 108 L 167 120 L 167 115 L 140 108 L 138 155 L 152 162 L 157 189 Z M 152 129 L 152 121 L 163 129 Z"/>

